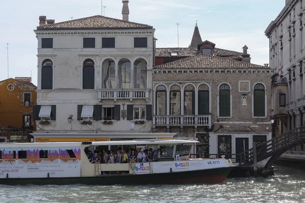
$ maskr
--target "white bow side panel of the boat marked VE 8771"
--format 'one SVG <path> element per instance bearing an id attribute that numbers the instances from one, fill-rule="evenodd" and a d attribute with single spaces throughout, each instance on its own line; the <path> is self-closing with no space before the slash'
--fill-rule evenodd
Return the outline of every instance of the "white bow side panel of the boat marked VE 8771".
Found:
<path id="1" fill-rule="evenodd" d="M 167 173 L 170 172 L 181 172 L 181 171 L 195 171 L 204 170 L 211 168 L 226 167 L 227 164 L 223 159 L 209 159 L 209 160 L 181 160 L 174 162 L 152 162 L 153 173 Z"/>

